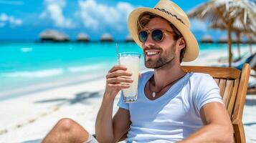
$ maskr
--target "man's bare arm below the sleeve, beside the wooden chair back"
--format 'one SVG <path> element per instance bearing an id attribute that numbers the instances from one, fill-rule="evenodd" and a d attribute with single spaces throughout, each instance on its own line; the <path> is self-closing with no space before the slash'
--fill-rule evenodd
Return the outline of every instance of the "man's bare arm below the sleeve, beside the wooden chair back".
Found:
<path id="1" fill-rule="evenodd" d="M 204 126 L 181 141 L 182 143 L 234 142 L 232 123 L 223 104 L 218 102 L 205 104 L 200 109 L 200 114 Z"/>

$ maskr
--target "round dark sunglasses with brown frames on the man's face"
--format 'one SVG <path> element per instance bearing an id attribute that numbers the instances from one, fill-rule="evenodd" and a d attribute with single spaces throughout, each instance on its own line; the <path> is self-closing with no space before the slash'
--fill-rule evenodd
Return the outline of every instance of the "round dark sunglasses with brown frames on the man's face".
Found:
<path id="1" fill-rule="evenodd" d="M 153 41 L 162 41 L 165 33 L 174 34 L 174 31 L 167 31 L 163 29 L 148 29 L 138 32 L 138 39 L 143 43 L 148 39 L 148 35 L 151 34 Z"/>

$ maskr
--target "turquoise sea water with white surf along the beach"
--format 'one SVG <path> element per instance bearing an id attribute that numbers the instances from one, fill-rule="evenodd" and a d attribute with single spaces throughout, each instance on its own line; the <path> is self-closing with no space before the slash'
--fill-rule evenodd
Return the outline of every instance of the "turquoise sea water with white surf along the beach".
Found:
<path id="1" fill-rule="evenodd" d="M 226 44 L 201 44 L 200 47 L 200 51 L 227 49 Z M 138 51 L 142 54 L 135 43 L 120 42 L 118 48 L 120 52 Z M 116 60 L 115 42 L 1 42 L 0 94 L 10 89 L 82 74 L 105 74 Z"/>

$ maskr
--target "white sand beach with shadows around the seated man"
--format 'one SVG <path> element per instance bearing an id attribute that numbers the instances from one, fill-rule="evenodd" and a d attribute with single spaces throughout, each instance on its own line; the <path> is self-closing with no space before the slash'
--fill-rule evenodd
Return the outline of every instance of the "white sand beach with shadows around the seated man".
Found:
<path id="1" fill-rule="evenodd" d="M 253 47 L 256 51 L 256 47 Z M 247 49 L 242 49 L 245 52 Z M 236 50 L 234 55 L 236 55 Z M 184 65 L 220 66 L 217 59 L 227 50 L 200 53 L 196 61 Z M 48 86 L 23 96 L 0 101 L 0 142 L 40 142 L 59 119 L 71 118 L 90 133 L 95 132 L 95 118 L 105 89 L 106 69 L 100 78 Z M 86 75 L 90 76 L 90 75 Z M 85 76 L 85 77 L 86 77 Z M 78 79 L 76 79 L 78 80 Z M 50 83 L 49 83 L 50 84 Z M 14 92 L 14 91 L 11 91 Z M 118 98 L 115 100 L 115 104 Z M 114 107 L 114 111 L 118 107 Z M 243 123 L 247 142 L 256 142 L 256 94 L 247 95 Z"/>

